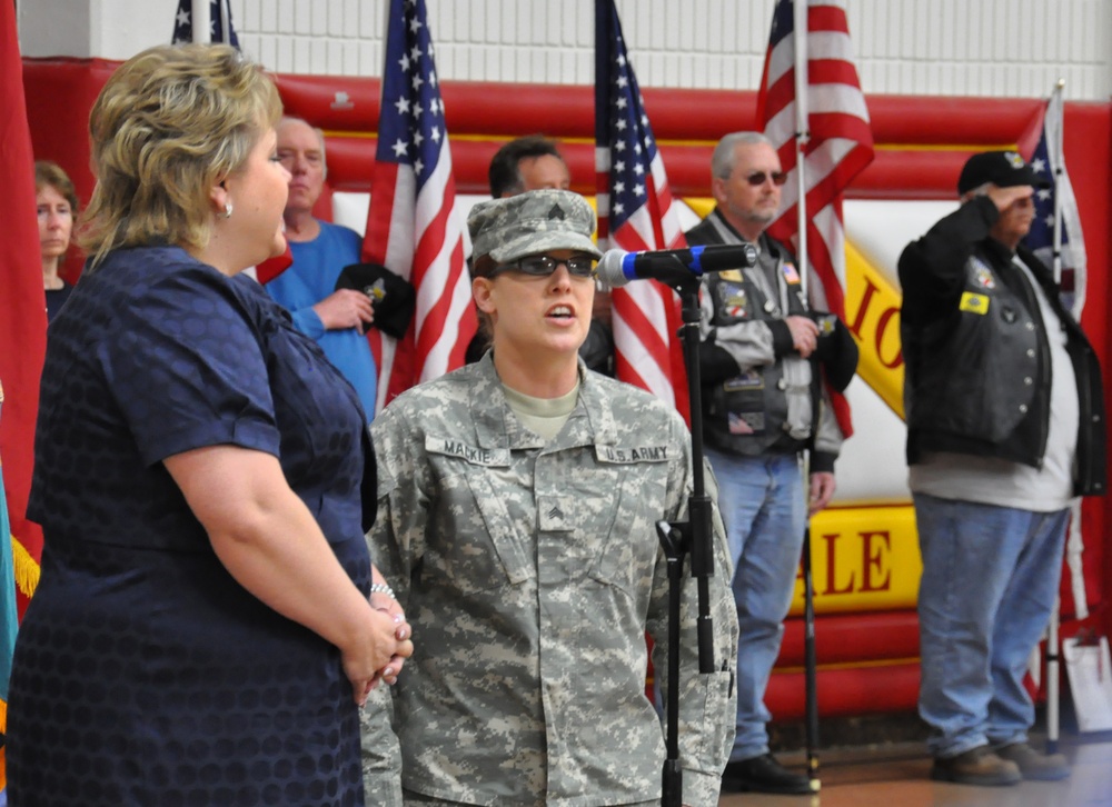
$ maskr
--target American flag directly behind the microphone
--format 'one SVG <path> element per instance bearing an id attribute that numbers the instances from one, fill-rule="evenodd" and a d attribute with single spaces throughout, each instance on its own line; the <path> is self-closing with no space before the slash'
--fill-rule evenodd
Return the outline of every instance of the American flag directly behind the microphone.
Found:
<path id="1" fill-rule="evenodd" d="M 595 171 L 598 243 L 629 252 L 685 245 L 664 160 L 626 54 L 614 0 L 595 2 Z M 655 280 L 613 293 L 615 369 L 689 419 L 679 298 Z"/>

